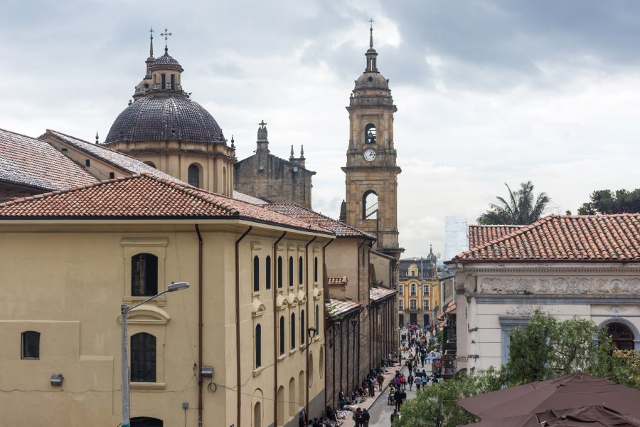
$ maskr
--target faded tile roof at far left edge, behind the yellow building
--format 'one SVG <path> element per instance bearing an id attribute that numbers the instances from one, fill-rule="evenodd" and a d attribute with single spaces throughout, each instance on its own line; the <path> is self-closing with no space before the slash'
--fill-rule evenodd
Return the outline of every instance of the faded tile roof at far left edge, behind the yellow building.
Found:
<path id="1" fill-rule="evenodd" d="M 0 181 L 51 191 L 97 179 L 46 142 L 0 129 Z"/>

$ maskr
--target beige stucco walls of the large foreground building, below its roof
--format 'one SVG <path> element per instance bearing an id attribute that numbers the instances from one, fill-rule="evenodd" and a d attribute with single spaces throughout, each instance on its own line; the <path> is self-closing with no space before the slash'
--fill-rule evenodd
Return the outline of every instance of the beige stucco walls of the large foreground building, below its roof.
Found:
<path id="1" fill-rule="evenodd" d="M 148 332 L 156 337 L 156 383 L 132 384 L 132 416 L 151 416 L 166 426 L 182 425 L 186 401 L 188 425 L 198 418 L 198 238 L 193 223 L 154 224 L 151 221 L 105 223 L 63 221 L 42 224 L 0 222 L 0 413 L 3 426 L 114 426 L 120 420 L 120 323 L 119 306 L 141 298 L 130 296 L 130 255 L 150 252 L 159 256 L 159 291 L 171 281 L 188 281 L 191 288 L 166 294 L 134 310 L 129 317 L 129 337 Z M 206 222 L 206 221 L 205 221 Z M 282 235 L 270 226 L 253 224 L 252 233 L 240 243 L 240 367 L 242 425 L 253 425 L 253 406 L 262 402 L 262 426 L 274 419 L 274 357 L 272 298 L 261 290 L 264 312 L 255 315 L 252 292 L 252 256 L 270 253 Z M 206 426 L 238 425 L 236 419 L 235 241 L 248 224 L 201 223 L 203 236 L 203 364 L 214 367 L 215 393 L 203 391 L 203 423 Z M 281 241 L 285 251 L 304 254 L 310 233 L 289 231 Z M 262 249 L 255 250 L 255 242 Z M 309 253 L 319 256 L 319 238 Z M 301 251 L 302 248 L 302 251 Z M 266 256 L 266 255 L 265 255 Z M 309 256 L 306 268 L 312 268 Z M 296 265 L 297 267 L 297 265 Z M 262 270 L 264 271 L 264 270 Z M 285 274 L 288 273 L 285 269 Z M 264 273 L 262 273 L 264 274 Z M 161 279 L 163 278 L 163 279 Z M 306 275 L 305 275 L 306 280 Z M 311 280 L 313 280 L 311 276 Z M 272 284 L 275 282 L 272 280 Z M 285 283 L 287 280 L 285 278 Z M 321 283 L 309 283 L 307 302 L 286 302 L 289 343 L 291 312 L 306 304 L 324 312 Z M 261 278 L 261 289 L 265 281 Z M 289 289 L 283 290 L 287 295 Z M 127 295 L 129 294 L 129 295 Z M 294 300 L 292 300 L 294 301 Z M 309 312 L 309 310 L 306 310 Z M 312 317 L 310 317 L 312 319 Z M 319 330 L 324 330 L 320 316 Z M 255 323 L 262 323 L 262 364 L 255 372 Z M 299 324 L 297 325 L 299 330 Z M 20 334 L 41 333 L 40 359 L 20 358 Z M 299 337 L 298 337 L 299 343 Z M 309 347 L 313 369 L 309 400 L 323 393 L 320 334 Z M 287 346 L 288 349 L 288 346 Z M 289 401 L 289 380 L 294 373 L 299 403 L 299 372 L 306 371 L 302 348 L 275 362 L 277 384 L 284 384 Z M 52 374 L 63 374 L 62 387 L 49 384 Z M 251 397 L 261 396 L 261 397 Z M 304 402 L 303 402 L 304 403 Z M 292 407 L 296 411 L 300 406 Z M 292 419 L 287 408 L 279 423 Z M 321 408 L 317 408 L 318 412 Z M 223 424 L 221 424 L 223 423 Z"/>

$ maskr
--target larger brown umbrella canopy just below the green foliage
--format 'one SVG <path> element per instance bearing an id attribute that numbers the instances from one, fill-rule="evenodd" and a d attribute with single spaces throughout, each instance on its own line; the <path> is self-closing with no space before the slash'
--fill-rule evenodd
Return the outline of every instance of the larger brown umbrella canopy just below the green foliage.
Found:
<path id="1" fill-rule="evenodd" d="M 484 421 L 589 405 L 607 406 L 640 418 L 640 391 L 582 372 L 491 391 L 456 402 Z"/>

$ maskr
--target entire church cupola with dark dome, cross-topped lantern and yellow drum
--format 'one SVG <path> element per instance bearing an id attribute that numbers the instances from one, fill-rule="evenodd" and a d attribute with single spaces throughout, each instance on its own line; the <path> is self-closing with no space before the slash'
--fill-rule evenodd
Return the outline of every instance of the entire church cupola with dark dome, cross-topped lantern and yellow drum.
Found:
<path id="1" fill-rule="evenodd" d="M 154 58 L 151 36 L 147 74 L 104 143 L 188 184 L 231 196 L 235 148 L 213 116 L 182 90 L 183 68 L 166 46 L 171 33 L 165 29 L 161 36 L 164 55 Z"/>

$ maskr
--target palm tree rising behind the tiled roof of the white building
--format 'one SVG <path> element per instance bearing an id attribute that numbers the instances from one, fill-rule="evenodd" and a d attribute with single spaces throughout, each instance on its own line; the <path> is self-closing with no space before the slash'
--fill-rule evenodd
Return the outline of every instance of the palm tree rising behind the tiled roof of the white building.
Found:
<path id="1" fill-rule="evenodd" d="M 499 204 L 490 204 L 488 211 L 478 217 L 478 223 L 484 226 L 505 224 L 505 225 L 527 225 L 538 221 L 547 209 L 551 198 L 546 193 L 533 197 L 533 183 L 531 181 L 520 184 L 518 191 L 509 191 L 506 201 L 502 197 L 497 197 Z"/>

